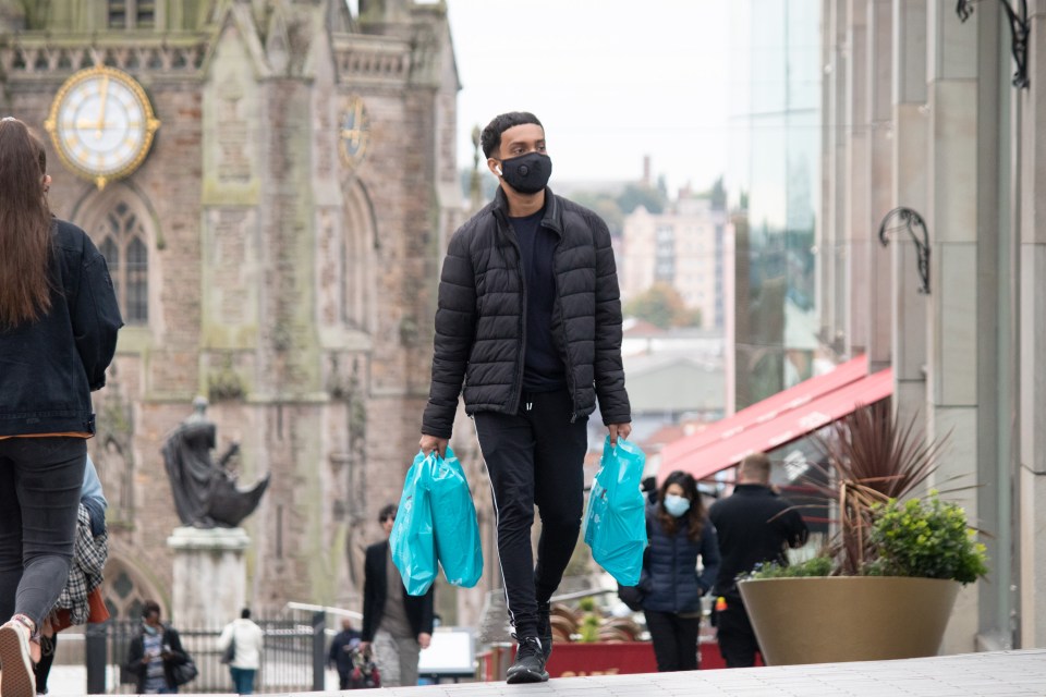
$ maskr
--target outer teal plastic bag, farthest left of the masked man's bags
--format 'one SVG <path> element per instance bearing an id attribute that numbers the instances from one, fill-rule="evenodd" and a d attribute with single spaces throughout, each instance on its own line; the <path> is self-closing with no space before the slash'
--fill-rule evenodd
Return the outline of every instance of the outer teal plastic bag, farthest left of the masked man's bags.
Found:
<path id="1" fill-rule="evenodd" d="M 436 536 L 429 498 L 431 458 L 417 453 L 406 472 L 400 506 L 389 536 L 392 562 L 412 596 L 424 596 L 436 580 Z"/>

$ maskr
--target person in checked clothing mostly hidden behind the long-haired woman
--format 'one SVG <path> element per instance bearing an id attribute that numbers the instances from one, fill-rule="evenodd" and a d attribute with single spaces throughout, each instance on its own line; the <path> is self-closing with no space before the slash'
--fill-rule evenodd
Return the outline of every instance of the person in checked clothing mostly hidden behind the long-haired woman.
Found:
<path id="1" fill-rule="evenodd" d="M 36 694 L 47 694 L 47 678 L 54 662 L 58 633 L 74 624 L 97 624 L 109 619 L 101 596 L 102 568 L 109 558 L 109 534 L 106 530 L 108 501 L 101 490 L 98 470 L 90 455 L 84 469 L 80 493 L 80 516 L 76 521 L 76 547 L 69 580 L 54 608 L 44 619 L 40 632 L 40 660 L 34 667 Z"/>

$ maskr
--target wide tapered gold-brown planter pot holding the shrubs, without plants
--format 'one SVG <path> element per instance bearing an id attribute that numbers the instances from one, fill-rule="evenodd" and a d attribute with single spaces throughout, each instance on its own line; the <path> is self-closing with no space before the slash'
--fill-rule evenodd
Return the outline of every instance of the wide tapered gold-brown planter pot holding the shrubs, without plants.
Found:
<path id="1" fill-rule="evenodd" d="M 739 584 L 767 665 L 936 656 L 956 580 L 889 576 Z"/>

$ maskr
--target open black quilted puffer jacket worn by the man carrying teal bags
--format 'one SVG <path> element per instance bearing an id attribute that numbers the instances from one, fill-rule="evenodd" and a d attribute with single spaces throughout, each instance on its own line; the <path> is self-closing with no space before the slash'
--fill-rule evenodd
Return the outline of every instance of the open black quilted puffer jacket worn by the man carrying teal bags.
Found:
<path id="1" fill-rule="evenodd" d="M 552 259 L 552 338 L 567 366 L 574 416 L 632 420 L 621 366 L 621 299 L 606 223 L 545 189 L 542 225 L 559 235 Z M 450 438 L 464 384 L 465 411 L 514 414 L 523 389 L 526 288 L 508 200 L 488 206 L 450 241 L 439 282 L 433 382 L 422 432 Z"/>

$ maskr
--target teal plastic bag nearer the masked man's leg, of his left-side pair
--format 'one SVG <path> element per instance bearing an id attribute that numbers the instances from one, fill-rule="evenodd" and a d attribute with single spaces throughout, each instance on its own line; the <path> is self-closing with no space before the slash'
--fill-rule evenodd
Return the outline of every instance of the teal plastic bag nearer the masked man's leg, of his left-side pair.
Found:
<path id="1" fill-rule="evenodd" d="M 446 457 L 434 455 L 430 460 L 436 555 L 448 583 L 472 588 L 483 574 L 483 548 L 472 491 L 454 451 L 448 448 Z"/>

